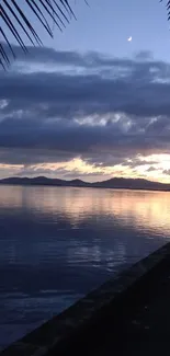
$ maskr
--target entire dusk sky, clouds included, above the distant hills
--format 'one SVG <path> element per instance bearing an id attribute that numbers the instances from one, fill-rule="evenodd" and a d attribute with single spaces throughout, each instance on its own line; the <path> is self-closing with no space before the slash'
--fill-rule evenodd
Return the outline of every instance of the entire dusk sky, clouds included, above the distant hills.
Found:
<path id="1" fill-rule="evenodd" d="M 21 0 L 18 0 L 21 3 Z M 23 2 L 23 0 L 22 0 Z M 0 68 L 0 177 L 170 183 L 170 32 L 159 0 L 72 0 L 77 21 Z M 127 38 L 132 36 L 132 41 Z"/>

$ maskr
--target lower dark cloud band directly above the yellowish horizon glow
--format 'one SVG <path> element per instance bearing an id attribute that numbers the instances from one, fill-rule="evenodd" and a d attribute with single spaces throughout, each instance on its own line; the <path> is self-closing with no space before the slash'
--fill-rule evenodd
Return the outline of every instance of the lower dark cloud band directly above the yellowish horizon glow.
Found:
<path id="1" fill-rule="evenodd" d="M 0 161 L 41 163 L 67 161 L 81 156 L 101 166 L 126 164 L 136 153 L 156 153 L 169 149 L 169 136 L 123 133 L 120 123 L 105 126 L 79 125 L 70 120 L 48 122 L 8 118 L 0 123 Z M 134 161 L 128 165 L 139 165 Z M 143 162 L 141 162 L 143 164 Z"/>

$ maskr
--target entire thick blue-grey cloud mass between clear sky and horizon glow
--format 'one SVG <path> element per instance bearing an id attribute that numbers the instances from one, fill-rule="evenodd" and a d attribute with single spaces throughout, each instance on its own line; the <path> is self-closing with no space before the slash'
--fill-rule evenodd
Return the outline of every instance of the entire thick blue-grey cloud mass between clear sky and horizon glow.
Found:
<path id="1" fill-rule="evenodd" d="M 169 64 L 146 53 L 129 60 L 47 48 L 25 57 L 15 49 L 20 61 L 0 72 L 1 162 L 81 157 L 107 166 L 126 165 L 138 153 L 169 152 Z M 31 70 L 23 72 L 21 62 Z M 44 65 L 41 72 L 37 64 Z M 70 73 L 66 66 L 81 70 Z"/>

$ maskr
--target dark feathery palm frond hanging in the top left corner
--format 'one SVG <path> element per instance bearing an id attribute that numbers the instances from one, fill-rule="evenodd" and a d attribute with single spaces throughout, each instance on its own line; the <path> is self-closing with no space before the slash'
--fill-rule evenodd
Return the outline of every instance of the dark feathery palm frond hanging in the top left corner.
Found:
<path id="1" fill-rule="evenodd" d="M 24 53 L 27 51 L 26 38 L 33 46 L 42 45 L 33 20 L 30 20 L 25 13 L 25 5 L 38 19 L 50 37 L 53 37 L 53 31 L 49 20 L 53 20 L 58 30 L 63 31 L 72 16 L 76 19 L 69 0 L 22 0 L 22 4 L 21 0 L 0 0 L 0 65 L 4 69 L 10 65 L 11 55 L 15 58 L 12 48 L 13 39 Z"/>

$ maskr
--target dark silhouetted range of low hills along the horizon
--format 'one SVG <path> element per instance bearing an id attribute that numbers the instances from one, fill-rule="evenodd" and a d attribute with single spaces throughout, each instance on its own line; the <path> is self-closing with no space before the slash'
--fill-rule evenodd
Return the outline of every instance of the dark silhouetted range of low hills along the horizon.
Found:
<path id="1" fill-rule="evenodd" d="M 157 183 L 140 179 L 113 177 L 103 182 L 87 183 L 81 180 L 65 181 L 48 179 L 46 176 L 36 177 L 8 177 L 0 180 L 0 184 L 11 185 L 53 185 L 53 186 L 79 186 L 79 187 L 101 187 L 116 190 L 146 190 L 146 191 L 170 191 L 170 184 Z"/>

